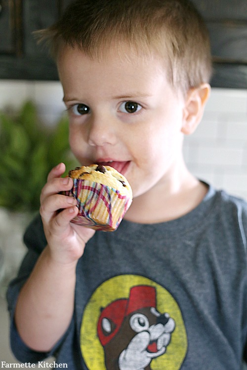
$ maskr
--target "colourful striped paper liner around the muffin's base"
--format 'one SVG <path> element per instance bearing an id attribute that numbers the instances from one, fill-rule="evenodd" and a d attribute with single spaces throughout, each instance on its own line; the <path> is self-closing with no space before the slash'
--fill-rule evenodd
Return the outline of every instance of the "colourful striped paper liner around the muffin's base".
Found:
<path id="1" fill-rule="evenodd" d="M 119 190 L 93 181 L 73 179 L 73 183 L 73 188 L 64 192 L 77 199 L 79 213 L 71 222 L 95 230 L 116 230 L 132 199 Z"/>

